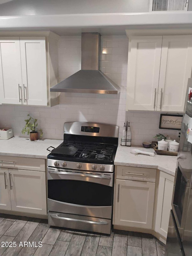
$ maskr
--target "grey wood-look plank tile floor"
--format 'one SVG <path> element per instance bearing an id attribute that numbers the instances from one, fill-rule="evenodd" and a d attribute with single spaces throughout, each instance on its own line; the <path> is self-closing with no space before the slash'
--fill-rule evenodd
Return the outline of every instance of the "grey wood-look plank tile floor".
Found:
<path id="1" fill-rule="evenodd" d="M 19 247 L 20 242 L 42 247 Z M 0 256 L 163 256 L 165 246 L 149 234 L 114 230 L 110 236 L 49 227 L 47 220 L 0 214 Z"/>

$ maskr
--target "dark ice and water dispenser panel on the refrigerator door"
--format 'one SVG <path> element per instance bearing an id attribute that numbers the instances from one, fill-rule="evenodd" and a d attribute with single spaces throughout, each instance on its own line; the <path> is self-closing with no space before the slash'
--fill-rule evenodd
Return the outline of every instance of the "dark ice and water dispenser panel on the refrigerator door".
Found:
<path id="1" fill-rule="evenodd" d="M 180 164 L 176 170 L 176 177 L 173 187 L 172 210 L 182 239 L 189 197 L 189 179 Z"/>

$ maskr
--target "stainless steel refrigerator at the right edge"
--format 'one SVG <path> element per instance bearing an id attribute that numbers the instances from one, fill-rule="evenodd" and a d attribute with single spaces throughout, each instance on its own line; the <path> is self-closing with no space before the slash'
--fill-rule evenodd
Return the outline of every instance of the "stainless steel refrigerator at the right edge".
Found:
<path id="1" fill-rule="evenodd" d="M 168 256 L 192 256 L 192 78 L 188 80 L 167 234 Z"/>

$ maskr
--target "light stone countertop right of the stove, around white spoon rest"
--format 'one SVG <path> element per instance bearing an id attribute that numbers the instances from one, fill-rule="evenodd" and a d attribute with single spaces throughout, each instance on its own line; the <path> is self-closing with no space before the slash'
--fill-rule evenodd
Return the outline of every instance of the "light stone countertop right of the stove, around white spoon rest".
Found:
<path id="1" fill-rule="evenodd" d="M 131 149 L 140 149 L 141 151 L 154 152 L 155 157 L 141 154 L 133 155 L 130 152 Z M 159 169 L 175 176 L 176 162 L 176 156 L 157 155 L 153 148 L 143 148 L 138 146 L 126 147 L 119 145 L 117 148 L 114 164 L 122 166 Z"/>

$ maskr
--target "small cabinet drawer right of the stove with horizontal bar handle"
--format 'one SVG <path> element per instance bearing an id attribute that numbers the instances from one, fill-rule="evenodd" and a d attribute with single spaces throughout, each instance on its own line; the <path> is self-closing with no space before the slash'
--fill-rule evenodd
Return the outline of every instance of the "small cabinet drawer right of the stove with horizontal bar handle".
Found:
<path id="1" fill-rule="evenodd" d="M 117 166 L 117 179 L 155 182 L 156 169 Z"/>

